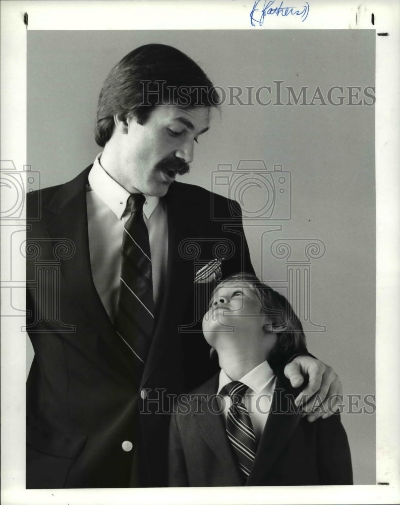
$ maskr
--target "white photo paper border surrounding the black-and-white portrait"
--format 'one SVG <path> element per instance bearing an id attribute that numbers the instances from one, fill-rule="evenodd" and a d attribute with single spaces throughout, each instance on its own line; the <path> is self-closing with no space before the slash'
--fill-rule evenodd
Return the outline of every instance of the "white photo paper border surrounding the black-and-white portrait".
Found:
<path id="1" fill-rule="evenodd" d="M 376 31 L 376 403 L 377 482 L 388 485 L 196 489 L 25 489 L 25 340 L 8 338 L 19 318 L 2 318 L 2 502 L 395 503 L 399 495 L 399 9 L 397 2 L 308 2 L 299 19 L 270 17 L 252 27 L 254 2 L 236 0 L 1 2 L 2 159 L 26 161 L 27 30 L 371 29 Z M 305 2 L 284 2 L 299 8 Z M 28 14 L 27 26 L 24 14 Z M 375 25 L 371 24 L 374 13 Z M 382 35 L 380 35 L 382 34 Z M 387 34 L 387 35 L 384 35 Z M 3 235 L 2 229 L 2 235 Z M 2 248 L 2 279 L 10 258 Z M 20 300 L 24 308 L 24 300 Z M 13 319 L 13 321 L 10 321 Z"/>

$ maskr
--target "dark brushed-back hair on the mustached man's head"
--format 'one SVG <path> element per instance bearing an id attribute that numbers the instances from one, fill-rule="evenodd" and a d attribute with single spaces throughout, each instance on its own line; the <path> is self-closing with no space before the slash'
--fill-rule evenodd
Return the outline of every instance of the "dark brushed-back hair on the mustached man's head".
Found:
<path id="1" fill-rule="evenodd" d="M 212 82 L 191 58 L 169 45 L 142 45 L 117 63 L 104 81 L 95 140 L 104 147 L 111 138 L 114 114 L 133 114 L 145 124 L 156 105 L 216 107 L 219 102 Z"/>

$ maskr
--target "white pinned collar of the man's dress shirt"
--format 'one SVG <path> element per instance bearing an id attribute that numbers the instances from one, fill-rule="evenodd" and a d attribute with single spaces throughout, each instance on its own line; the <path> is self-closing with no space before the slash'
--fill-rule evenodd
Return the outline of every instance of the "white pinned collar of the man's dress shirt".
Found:
<path id="1" fill-rule="evenodd" d="M 125 213 L 130 193 L 107 174 L 100 165 L 100 156 L 101 153 L 96 156 L 93 167 L 89 172 L 90 189 L 111 209 L 118 219 L 121 219 Z M 160 199 L 158 196 L 144 196 L 146 201 L 143 205 L 143 214 L 149 219 Z"/>

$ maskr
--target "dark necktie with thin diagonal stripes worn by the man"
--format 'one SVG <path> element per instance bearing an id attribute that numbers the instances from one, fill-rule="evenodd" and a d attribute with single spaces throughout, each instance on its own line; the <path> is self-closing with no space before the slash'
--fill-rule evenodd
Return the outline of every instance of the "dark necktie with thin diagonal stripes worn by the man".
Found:
<path id="1" fill-rule="evenodd" d="M 127 210 L 131 217 L 125 224 L 122 240 L 120 295 L 116 329 L 137 358 L 140 378 L 154 329 L 153 281 L 150 243 L 143 219 L 145 197 L 131 194 Z"/>

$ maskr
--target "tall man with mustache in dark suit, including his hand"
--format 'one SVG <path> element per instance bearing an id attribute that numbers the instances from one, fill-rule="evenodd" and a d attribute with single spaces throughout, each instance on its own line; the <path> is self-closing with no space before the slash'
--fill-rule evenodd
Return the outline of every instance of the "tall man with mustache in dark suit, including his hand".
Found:
<path id="1" fill-rule="evenodd" d="M 206 281 L 253 271 L 239 205 L 175 182 L 217 103 L 186 55 L 139 47 L 100 92 L 102 153 L 72 181 L 29 195 L 27 488 L 166 485 L 166 395 L 215 370 L 197 324 Z M 36 209 L 40 219 L 30 219 Z M 131 256 L 128 237 L 142 256 Z M 130 284 L 137 279 L 140 294 Z M 285 372 L 293 383 L 309 376 L 310 394 L 340 387 L 309 356 Z"/>

